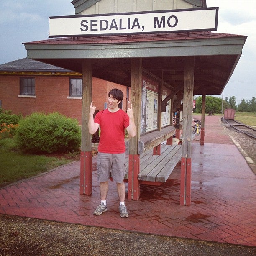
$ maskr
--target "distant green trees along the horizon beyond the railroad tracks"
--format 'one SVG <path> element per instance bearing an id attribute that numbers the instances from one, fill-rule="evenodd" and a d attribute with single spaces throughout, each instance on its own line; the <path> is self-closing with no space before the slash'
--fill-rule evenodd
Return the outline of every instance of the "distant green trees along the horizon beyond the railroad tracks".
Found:
<path id="1" fill-rule="evenodd" d="M 195 97 L 196 101 L 195 108 L 193 111 L 195 113 L 201 113 L 202 110 L 202 96 Z M 225 97 L 225 100 L 222 100 L 220 97 L 214 97 L 206 95 L 205 97 L 205 113 L 216 113 L 220 114 L 221 110 L 226 108 L 233 108 L 236 111 L 240 112 L 256 112 L 256 98 L 252 97 L 251 100 L 241 100 L 240 104 L 236 104 L 236 97 L 232 96 L 228 99 Z"/>

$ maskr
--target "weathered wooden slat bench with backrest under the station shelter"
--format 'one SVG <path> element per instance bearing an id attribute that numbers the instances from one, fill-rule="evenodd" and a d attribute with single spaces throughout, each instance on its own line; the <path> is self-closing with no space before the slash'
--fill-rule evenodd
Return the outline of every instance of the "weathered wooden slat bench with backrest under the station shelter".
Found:
<path id="1" fill-rule="evenodd" d="M 160 185 L 166 182 L 174 167 L 182 156 L 182 145 L 172 145 L 175 134 L 173 126 L 162 128 L 161 131 L 147 133 L 138 141 L 140 154 L 140 172 L 138 180 L 141 184 Z M 163 142 L 167 141 L 166 144 Z M 126 159 L 128 178 L 128 158 Z"/>

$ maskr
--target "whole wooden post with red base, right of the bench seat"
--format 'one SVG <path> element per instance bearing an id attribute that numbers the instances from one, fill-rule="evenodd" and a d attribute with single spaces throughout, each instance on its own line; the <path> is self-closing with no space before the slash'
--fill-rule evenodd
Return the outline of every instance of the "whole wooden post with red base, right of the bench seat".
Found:
<path id="1" fill-rule="evenodd" d="M 180 205 L 191 203 L 191 120 L 193 108 L 195 57 L 187 57 L 184 67 L 184 98 L 183 98 L 183 141 L 182 168 L 180 184 Z"/>

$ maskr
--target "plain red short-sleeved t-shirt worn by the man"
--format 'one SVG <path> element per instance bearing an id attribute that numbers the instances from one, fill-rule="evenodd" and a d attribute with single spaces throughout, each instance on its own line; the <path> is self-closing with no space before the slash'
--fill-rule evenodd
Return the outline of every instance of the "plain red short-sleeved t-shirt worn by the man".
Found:
<path id="1" fill-rule="evenodd" d="M 129 126 L 127 113 L 121 109 L 117 112 L 105 109 L 96 114 L 94 122 L 100 125 L 98 151 L 110 154 L 125 153 L 125 128 Z"/>

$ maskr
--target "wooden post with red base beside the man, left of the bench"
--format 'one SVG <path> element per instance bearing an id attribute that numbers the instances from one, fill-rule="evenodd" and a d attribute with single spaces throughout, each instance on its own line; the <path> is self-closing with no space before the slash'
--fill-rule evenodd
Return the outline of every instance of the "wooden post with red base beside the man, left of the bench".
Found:
<path id="1" fill-rule="evenodd" d="M 138 140 L 141 131 L 141 87 L 142 87 L 142 59 L 131 59 L 131 103 L 133 104 L 136 136 L 130 138 L 129 172 L 128 172 L 128 199 L 139 199 L 138 173 L 140 171 L 138 154 Z"/>

